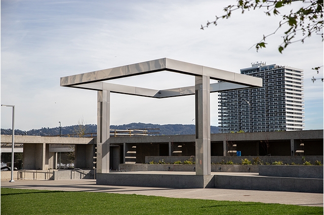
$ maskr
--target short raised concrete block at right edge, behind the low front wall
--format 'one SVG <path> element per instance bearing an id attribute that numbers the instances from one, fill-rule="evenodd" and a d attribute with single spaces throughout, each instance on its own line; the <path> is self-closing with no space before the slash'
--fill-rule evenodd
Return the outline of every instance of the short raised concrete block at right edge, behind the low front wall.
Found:
<path id="1" fill-rule="evenodd" d="M 260 165 L 259 175 L 323 179 L 323 166 Z"/>

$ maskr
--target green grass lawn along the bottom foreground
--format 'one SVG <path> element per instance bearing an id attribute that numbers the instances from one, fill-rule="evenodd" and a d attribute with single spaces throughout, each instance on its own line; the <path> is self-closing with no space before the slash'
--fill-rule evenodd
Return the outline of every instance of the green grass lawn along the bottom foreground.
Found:
<path id="1" fill-rule="evenodd" d="M 302 195 L 302 194 L 296 194 Z M 323 207 L 1 188 L 1 214 L 323 214 Z"/>

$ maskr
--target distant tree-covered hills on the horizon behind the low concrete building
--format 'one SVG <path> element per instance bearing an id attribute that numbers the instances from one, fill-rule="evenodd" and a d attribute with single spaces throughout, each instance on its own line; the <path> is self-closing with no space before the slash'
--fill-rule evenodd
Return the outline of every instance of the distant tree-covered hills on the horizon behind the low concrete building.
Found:
<path id="1" fill-rule="evenodd" d="M 61 135 L 75 135 L 76 130 L 79 125 L 70 125 L 61 127 Z M 97 133 L 96 124 L 86 124 L 85 125 L 86 134 Z M 195 134 L 195 125 L 194 124 L 150 124 L 150 123 L 130 123 L 123 125 L 110 125 L 110 129 L 116 130 L 127 130 L 127 129 L 143 129 L 143 128 L 159 128 L 159 130 L 149 130 L 149 132 L 159 132 L 159 134 L 151 135 L 194 135 Z M 211 126 L 211 133 L 218 133 L 218 126 Z M 2 135 L 12 135 L 11 129 L 1 128 Z M 39 129 L 32 129 L 29 131 L 15 130 L 15 135 L 28 135 L 28 136 L 58 136 L 60 134 L 59 127 L 42 127 Z"/>

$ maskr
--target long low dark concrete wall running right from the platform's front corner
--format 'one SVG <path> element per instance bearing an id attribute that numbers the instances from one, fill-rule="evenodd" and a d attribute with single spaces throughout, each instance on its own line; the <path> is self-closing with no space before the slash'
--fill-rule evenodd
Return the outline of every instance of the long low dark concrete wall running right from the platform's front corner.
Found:
<path id="1" fill-rule="evenodd" d="M 216 175 L 215 188 L 323 193 L 323 179 Z"/>

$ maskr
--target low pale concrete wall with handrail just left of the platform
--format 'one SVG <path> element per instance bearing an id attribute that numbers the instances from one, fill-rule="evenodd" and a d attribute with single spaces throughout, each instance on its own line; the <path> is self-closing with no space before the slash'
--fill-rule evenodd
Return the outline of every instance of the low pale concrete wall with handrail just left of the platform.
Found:
<path id="1" fill-rule="evenodd" d="M 54 180 L 68 179 L 95 179 L 94 170 L 55 170 L 53 171 Z"/>

